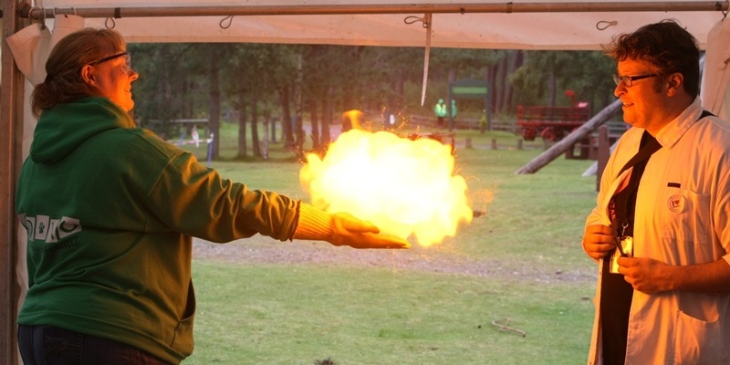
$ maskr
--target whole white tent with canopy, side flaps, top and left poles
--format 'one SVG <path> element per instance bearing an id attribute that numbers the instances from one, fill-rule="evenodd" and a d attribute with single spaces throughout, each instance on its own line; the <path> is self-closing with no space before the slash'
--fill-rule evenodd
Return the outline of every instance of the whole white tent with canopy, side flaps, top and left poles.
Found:
<path id="1" fill-rule="evenodd" d="M 600 49 L 611 36 L 673 18 L 707 49 L 705 107 L 730 120 L 729 0 L 0 0 L 3 4 L 0 120 L 0 362 L 15 364 L 23 243 L 15 184 L 34 122 L 24 80 L 43 77 L 57 38 L 81 26 L 114 27 L 128 42 L 257 42 L 390 47 Z M 233 17 L 230 17 L 233 16 Z M 28 19 L 31 27 L 22 26 Z M 430 20 L 424 25 L 423 20 Z M 41 26 L 40 24 L 45 26 Z M 429 32 L 431 32 L 429 36 Z M 12 36 L 12 37 L 11 37 Z M 9 38 L 10 37 L 10 38 Z M 427 41 L 430 40 L 430 42 Z M 14 47 L 11 56 L 10 46 Z M 13 57 L 15 56 L 15 58 Z M 18 72 L 22 66 L 23 74 Z M 25 88 L 25 91 L 24 91 Z M 25 108 L 24 108 L 25 107 Z M 25 111 L 24 111 L 25 109 Z M 22 272 L 22 270 L 19 270 Z"/>

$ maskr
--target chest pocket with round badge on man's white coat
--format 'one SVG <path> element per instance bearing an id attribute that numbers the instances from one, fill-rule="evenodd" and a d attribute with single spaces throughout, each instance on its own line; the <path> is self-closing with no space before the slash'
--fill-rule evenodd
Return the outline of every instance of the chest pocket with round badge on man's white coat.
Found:
<path id="1" fill-rule="evenodd" d="M 667 188 L 660 206 L 660 224 L 665 252 L 678 258 L 672 265 L 714 261 L 710 195 L 686 189 Z M 660 198 L 661 199 L 661 198 Z"/>

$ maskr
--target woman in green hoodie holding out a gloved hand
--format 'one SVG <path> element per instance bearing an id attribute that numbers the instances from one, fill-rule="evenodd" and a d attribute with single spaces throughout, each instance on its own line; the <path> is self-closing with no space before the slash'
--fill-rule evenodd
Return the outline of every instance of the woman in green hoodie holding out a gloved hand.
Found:
<path id="1" fill-rule="evenodd" d="M 176 364 L 193 351 L 192 236 L 255 234 L 408 248 L 376 226 L 249 190 L 135 127 L 139 75 L 119 33 L 61 39 L 36 85 L 39 120 L 17 183 L 28 291 L 17 318 L 26 365 Z"/>

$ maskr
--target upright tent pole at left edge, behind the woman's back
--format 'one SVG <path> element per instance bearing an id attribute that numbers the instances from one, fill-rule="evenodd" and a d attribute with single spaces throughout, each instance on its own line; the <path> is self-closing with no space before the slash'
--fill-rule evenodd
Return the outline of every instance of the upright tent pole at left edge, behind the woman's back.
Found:
<path id="1" fill-rule="evenodd" d="M 16 314 L 20 296 L 17 282 L 16 178 L 23 141 L 23 93 L 25 78 L 13 61 L 5 39 L 23 26 L 16 14 L 17 0 L 3 0 L 2 74 L 0 84 L 0 362 L 17 364 Z"/>

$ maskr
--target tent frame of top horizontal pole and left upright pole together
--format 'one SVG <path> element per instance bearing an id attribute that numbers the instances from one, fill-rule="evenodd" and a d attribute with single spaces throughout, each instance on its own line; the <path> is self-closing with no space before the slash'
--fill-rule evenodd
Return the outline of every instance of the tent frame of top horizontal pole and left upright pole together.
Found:
<path id="1" fill-rule="evenodd" d="M 16 310 L 20 297 L 17 281 L 16 247 L 18 222 L 15 213 L 16 181 L 22 163 L 23 102 L 25 78 L 13 60 L 6 38 L 32 21 L 69 14 L 85 18 L 151 16 L 282 16 L 282 15 L 365 15 L 365 14 L 466 14 L 540 12 L 641 12 L 718 11 L 730 8 L 725 1 L 619 2 L 619 3 L 512 3 L 502 4 L 412 4 L 412 5 L 262 5 L 262 6 L 169 6 L 38 8 L 26 0 L 2 0 L 2 74 L 0 78 L 0 363 L 17 364 Z M 25 19 L 25 20 L 24 20 Z"/>

